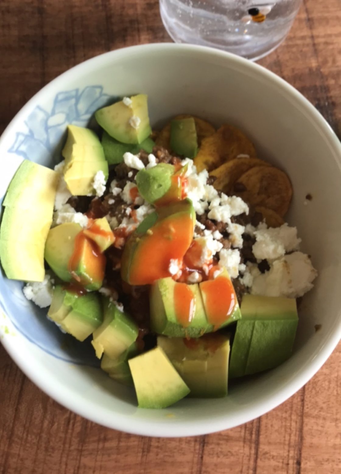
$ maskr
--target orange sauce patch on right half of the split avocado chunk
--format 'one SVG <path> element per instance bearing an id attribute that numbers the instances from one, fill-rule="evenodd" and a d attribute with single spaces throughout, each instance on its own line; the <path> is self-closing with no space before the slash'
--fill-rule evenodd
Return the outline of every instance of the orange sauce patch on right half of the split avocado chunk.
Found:
<path id="1" fill-rule="evenodd" d="M 206 301 L 206 316 L 208 322 L 216 329 L 231 316 L 236 305 L 236 296 L 231 280 L 224 276 L 217 276 L 215 280 L 208 280 L 200 284 Z"/>

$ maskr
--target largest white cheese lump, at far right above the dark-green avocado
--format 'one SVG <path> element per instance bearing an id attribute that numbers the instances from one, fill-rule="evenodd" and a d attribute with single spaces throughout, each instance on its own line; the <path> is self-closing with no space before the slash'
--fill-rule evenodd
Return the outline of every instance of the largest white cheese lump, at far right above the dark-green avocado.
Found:
<path id="1" fill-rule="evenodd" d="M 294 252 L 275 260 L 270 270 L 253 279 L 252 294 L 298 298 L 313 288 L 317 276 L 310 258 Z"/>

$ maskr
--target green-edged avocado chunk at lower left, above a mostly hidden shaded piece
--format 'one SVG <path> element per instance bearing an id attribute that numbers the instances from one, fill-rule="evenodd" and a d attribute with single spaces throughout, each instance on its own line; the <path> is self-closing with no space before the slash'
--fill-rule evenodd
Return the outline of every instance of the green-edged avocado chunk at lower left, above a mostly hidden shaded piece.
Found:
<path id="1" fill-rule="evenodd" d="M 93 333 L 92 346 L 100 359 L 103 354 L 115 359 L 130 347 L 138 336 L 138 327 L 114 302 L 103 298 L 103 324 Z"/>

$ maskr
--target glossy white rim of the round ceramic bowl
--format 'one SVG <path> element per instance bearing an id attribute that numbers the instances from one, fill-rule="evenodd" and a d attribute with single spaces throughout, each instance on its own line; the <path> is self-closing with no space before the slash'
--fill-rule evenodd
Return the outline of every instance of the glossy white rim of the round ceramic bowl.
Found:
<path id="1" fill-rule="evenodd" d="M 206 46 L 174 43 L 150 43 L 146 45 L 119 48 L 114 51 L 109 51 L 107 53 L 94 56 L 93 58 L 77 64 L 66 72 L 60 74 L 54 80 L 46 84 L 40 91 L 38 91 L 18 111 L 0 137 L 0 148 L 9 131 L 12 128 L 16 128 L 17 122 L 21 122 L 26 116 L 26 111 L 30 109 L 34 103 L 40 100 L 40 98 L 42 98 L 49 88 L 55 83 L 59 82 L 61 79 L 67 80 L 68 77 L 71 77 L 75 71 L 80 72 L 82 69 L 88 68 L 89 65 L 91 65 L 91 69 L 96 69 L 102 64 L 110 63 L 112 59 L 117 60 L 117 58 L 120 56 L 135 54 L 136 51 L 138 51 L 139 54 L 150 53 L 152 51 L 159 53 L 179 52 L 188 55 L 196 53 L 202 55 L 203 58 L 208 56 L 221 58 L 235 66 L 241 66 L 244 70 L 253 71 L 259 76 L 262 76 L 269 82 L 276 84 L 281 93 L 285 93 L 288 98 L 291 98 L 300 104 L 302 109 L 306 111 L 307 116 L 309 116 L 309 118 L 314 121 L 315 125 L 317 125 L 328 138 L 332 149 L 335 151 L 335 155 L 338 156 L 337 161 L 339 167 L 341 167 L 341 143 L 332 130 L 331 126 L 323 118 L 320 112 L 315 109 L 314 106 L 299 91 L 297 91 L 284 79 L 280 78 L 278 75 L 272 73 L 260 64 L 253 63 L 247 59 L 233 55 L 231 53 Z M 6 351 L 9 353 L 14 362 L 18 365 L 18 367 L 33 383 L 35 383 L 43 392 L 63 405 L 65 408 L 72 410 L 82 417 L 108 428 L 117 429 L 135 435 L 152 437 L 186 437 L 204 435 L 233 428 L 258 418 L 268 411 L 276 408 L 278 405 L 290 398 L 299 389 L 301 389 L 305 383 L 307 383 L 310 378 L 314 376 L 314 374 L 321 368 L 328 357 L 332 354 L 332 351 L 335 349 L 340 339 L 341 318 L 336 329 L 332 335 L 329 336 L 323 347 L 315 355 L 314 359 L 302 366 L 295 374 L 295 377 L 293 377 L 293 379 L 284 389 L 281 388 L 274 394 L 270 395 L 269 398 L 265 397 L 262 401 L 255 403 L 255 405 L 251 408 L 246 408 L 243 414 L 228 414 L 225 416 L 222 414 L 219 419 L 210 420 L 208 422 L 206 420 L 190 420 L 180 421 L 175 424 L 168 425 L 157 421 L 155 422 L 144 419 L 129 420 L 127 415 L 121 415 L 117 412 L 115 412 L 115 417 L 108 419 L 106 410 L 103 410 L 100 406 L 97 406 L 93 401 L 82 400 L 82 402 L 79 403 L 79 401 L 73 399 L 72 395 L 74 395 L 74 393 L 71 389 L 67 388 L 67 390 L 65 390 L 65 388 L 63 388 L 63 390 L 61 390 L 60 388 L 56 389 L 55 386 L 49 385 L 45 374 L 40 374 L 39 371 L 36 371 L 34 368 L 32 368 L 31 360 L 34 360 L 34 357 L 32 355 L 21 355 L 18 350 L 16 350 L 16 345 L 11 343 L 11 338 L 4 337 L 0 342 L 5 347 Z"/>

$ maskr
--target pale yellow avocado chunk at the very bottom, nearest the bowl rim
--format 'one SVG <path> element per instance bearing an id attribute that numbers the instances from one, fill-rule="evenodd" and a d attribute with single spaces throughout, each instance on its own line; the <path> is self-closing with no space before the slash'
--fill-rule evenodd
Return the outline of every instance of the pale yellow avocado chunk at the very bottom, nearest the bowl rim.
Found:
<path id="1" fill-rule="evenodd" d="M 128 364 L 140 408 L 166 408 L 189 393 L 161 347 L 130 359 Z"/>

